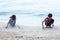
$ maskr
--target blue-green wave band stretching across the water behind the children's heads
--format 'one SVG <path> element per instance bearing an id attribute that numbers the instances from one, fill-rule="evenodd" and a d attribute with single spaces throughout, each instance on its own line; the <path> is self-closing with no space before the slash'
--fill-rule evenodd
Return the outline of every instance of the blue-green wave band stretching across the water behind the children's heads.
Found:
<path id="1" fill-rule="evenodd" d="M 0 12 L 1 16 L 5 16 L 5 15 L 11 15 L 11 14 L 15 14 L 15 15 L 28 15 L 28 16 L 38 16 L 38 17 L 42 17 L 42 16 L 47 16 L 48 13 L 47 12 L 37 12 L 37 11 L 11 11 L 11 12 Z M 59 13 L 53 13 L 53 16 L 57 16 L 60 17 Z"/>

